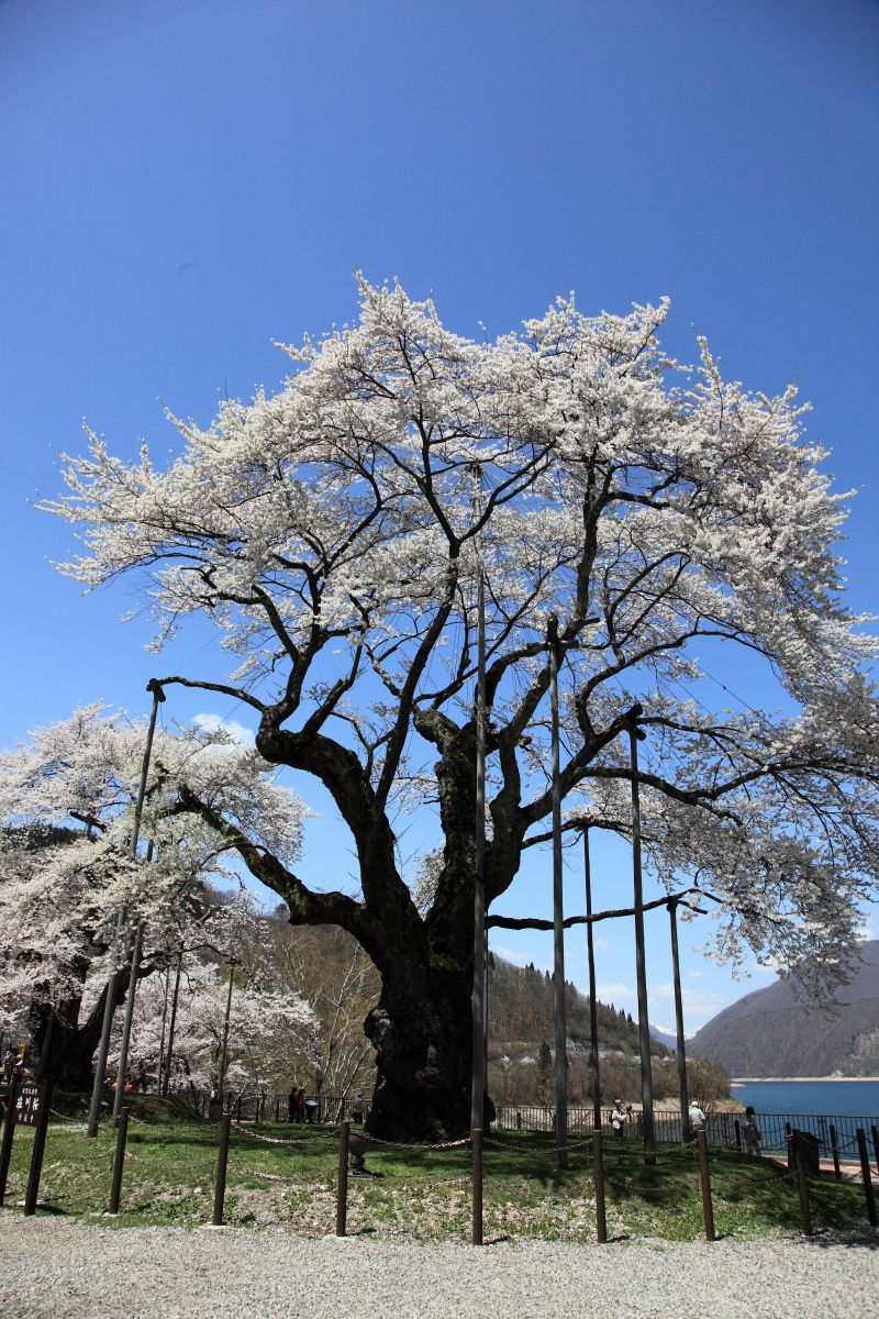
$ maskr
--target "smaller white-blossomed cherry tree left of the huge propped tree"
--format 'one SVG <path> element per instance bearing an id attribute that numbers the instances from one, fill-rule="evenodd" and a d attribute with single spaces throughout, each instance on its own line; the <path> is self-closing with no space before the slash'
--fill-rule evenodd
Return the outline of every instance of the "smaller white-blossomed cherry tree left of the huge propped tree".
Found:
<path id="1" fill-rule="evenodd" d="M 145 922 L 142 975 L 179 950 L 231 955 L 253 914 L 206 889 L 228 843 L 181 789 L 211 799 L 252 842 L 291 861 L 302 807 L 269 766 L 223 729 L 159 728 L 144 823 L 150 860 L 129 857 L 130 810 L 145 728 L 92 704 L 0 754 L 0 1004 L 26 1012 L 45 1064 L 74 1089 L 91 1084 L 107 984 L 124 998 L 117 917 Z"/>

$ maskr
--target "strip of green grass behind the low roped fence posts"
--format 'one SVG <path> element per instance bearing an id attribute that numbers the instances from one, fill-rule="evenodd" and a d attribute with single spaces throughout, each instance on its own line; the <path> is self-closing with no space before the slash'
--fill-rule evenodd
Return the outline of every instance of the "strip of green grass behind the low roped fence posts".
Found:
<path id="1" fill-rule="evenodd" d="M 136 1105 L 132 1105 L 136 1108 Z M 167 1105 L 141 1109 L 129 1126 L 120 1227 L 211 1221 L 216 1126 L 182 1120 Z M 137 1117 L 137 1115 L 133 1115 Z M 250 1132 L 285 1144 L 258 1140 Z M 294 1144 L 286 1144 L 293 1140 Z M 104 1124 L 90 1140 L 84 1124 L 49 1128 L 41 1182 L 47 1211 L 98 1217 L 109 1199 L 116 1133 Z M 33 1132 L 18 1128 L 5 1212 L 24 1196 Z M 575 1142 L 576 1144 L 576 1142 Z M 717 1233 L 752 1239 L 800 1231 L 796 1186 L 770 1159 L 712 1150 Z M 232 1126 L 225 1221 L 281 1224 L 304 1236 L 335 1231 L 337 1140 L 331 1128 L 286 1124 Z M 349 1179 L 348 1231 L 422 1241 L 468 1240 L 470 1153 L 373 1146 L 368 1167 L 381 1177 Z M 693 1150 L 663 1146 L 646 1167 L 638 1145 L 605 1148 L 608 1229 L 611 1237 L 651 1236 L 673 1241 L 704 1236 L 698 1167 Z M 861 1187 L 809 1183 L 817 1231 L 866 1228 Z M 17 1211 L 20 1212 L 20 1211 Z M 103 1220 L 108 1223 L 109 1220 Z M 548 1134 L 499 1133 L 485 1150 L 485 1237 L 585 1241 L 596 1235 L 590 1149 L 573 1149 L 571 1169 L 555 1169 Z"/>

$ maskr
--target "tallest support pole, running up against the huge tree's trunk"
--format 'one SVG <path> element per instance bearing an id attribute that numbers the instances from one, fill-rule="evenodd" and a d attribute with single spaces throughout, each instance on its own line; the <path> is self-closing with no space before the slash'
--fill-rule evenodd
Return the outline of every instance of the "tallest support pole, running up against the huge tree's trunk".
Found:
<path id="1" fill-rule="evenodd" d="M 485 575 L 477 584 L 476 828 L 473 838 L 473 1060 L 470 1132 L 485 1120 Z"/>

